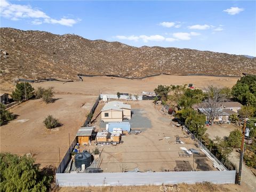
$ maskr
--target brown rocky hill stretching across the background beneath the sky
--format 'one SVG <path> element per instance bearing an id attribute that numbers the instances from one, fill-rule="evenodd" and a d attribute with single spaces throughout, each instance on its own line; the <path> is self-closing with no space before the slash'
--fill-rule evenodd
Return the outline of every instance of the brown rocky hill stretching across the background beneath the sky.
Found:
<path id="1" fill-rule="evenodd" d="M 133 47 L 44 31 L 0 30 L 2 82 L 11 82 L 15 78 L 77 79 L 79 73 L 126 77 L 158 73 L 256 74 L 256 59 L 243 55 L 173 47 Z"/>

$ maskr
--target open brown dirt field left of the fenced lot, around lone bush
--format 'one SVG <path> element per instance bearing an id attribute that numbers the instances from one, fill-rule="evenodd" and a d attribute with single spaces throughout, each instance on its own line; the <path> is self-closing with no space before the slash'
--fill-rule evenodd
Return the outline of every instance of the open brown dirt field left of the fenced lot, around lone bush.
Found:
<path id="1" fill-rule="evenodd" d="M 1 152 L 31 153 L 42 166 L 58 166 L 59 147 L 62 159 L 69 147 L 68 133 L 72 142 L 97 97 L 56 94 L 55 99 L 47 105 L 42 100 L 29 100 L 11 109 L 18 118 L 1 126 Z M 63 126 L 47 130 L 43 124 L 47 115 L 58 118 Z"/>

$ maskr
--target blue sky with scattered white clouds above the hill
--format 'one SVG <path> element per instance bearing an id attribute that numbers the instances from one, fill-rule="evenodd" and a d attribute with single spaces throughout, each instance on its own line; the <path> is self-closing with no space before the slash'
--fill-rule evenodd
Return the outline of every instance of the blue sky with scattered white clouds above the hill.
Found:
<path id="1" fill-rule="evenodd" d="M 1 27 L 256 57 L 256 1 L 7 1 Z"/>

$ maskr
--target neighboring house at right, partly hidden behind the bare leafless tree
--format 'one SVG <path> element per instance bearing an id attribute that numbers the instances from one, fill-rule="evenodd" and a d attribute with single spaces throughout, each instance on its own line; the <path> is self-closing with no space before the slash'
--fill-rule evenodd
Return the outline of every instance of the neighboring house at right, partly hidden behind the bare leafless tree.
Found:
<path id="1" fill-rule="evenodd" d="M 209 114 L 211 114 L 211 108 L 201 108 L 200 104 L 193 106 L 195 110 L 198 110 L 199 113 L 202 113 L 206 116 L 206 121 L 209 119 Z M 221 102 L 218 110 L 215 111 L 216 115 L 214 122 L 228 122 L 228 117 L 230 115 L 238 115 L 238 111 L 243 105 L 239 102 Z"/>

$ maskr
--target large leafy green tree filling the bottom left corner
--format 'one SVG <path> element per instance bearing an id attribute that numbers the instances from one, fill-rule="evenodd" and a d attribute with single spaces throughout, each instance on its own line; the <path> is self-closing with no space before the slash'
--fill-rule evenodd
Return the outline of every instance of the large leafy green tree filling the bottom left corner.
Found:
<path id="1" fill-rule="evenodd" d="M 0 153 L 0 191 L 46 191 L 52 177 L 43 175 L 34 159 L 9 153 Z"/>

